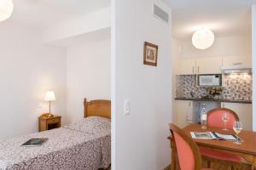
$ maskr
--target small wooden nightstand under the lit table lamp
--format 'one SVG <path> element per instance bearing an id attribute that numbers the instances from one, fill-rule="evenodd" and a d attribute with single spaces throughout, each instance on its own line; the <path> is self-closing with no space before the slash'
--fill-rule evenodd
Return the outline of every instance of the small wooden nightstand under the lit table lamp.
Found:
<path id="1" fill-rule="evenodd" d="M 43 115 L 38 119 L 39 132 L 61 127 L 61 116 L 46 117 Z"/>

